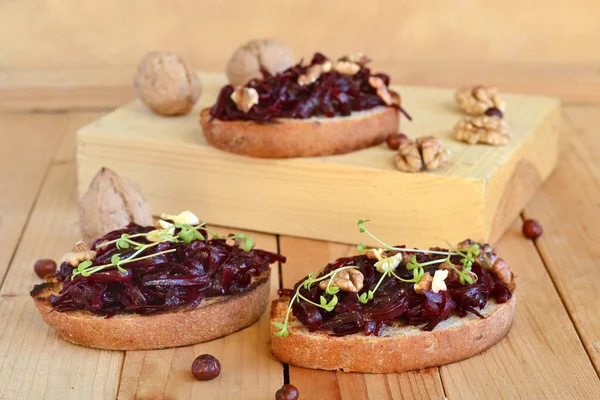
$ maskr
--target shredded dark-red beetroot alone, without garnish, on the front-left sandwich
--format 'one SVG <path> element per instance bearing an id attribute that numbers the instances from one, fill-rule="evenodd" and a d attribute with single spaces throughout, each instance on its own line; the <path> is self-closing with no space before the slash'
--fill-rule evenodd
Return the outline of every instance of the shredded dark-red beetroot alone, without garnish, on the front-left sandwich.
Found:
<path id="1" fill-rule="evenodd" d="M 118 249 L 114 244 L 99 243 L 118 239 L 121 234 L 153 230 L 134 223 L 96 240 L 93 265 L 110 263 L 111 257 L 131 255 L 134 249 Z M 145 238 L 138 239 L 148 243 Z M 260 275 L 269 264 L 285 262 L 285 257 L 264 250 L 245 252 L 223 239 L 196 240 L 184 243 L 164 242 L 144 250 L 139 256 L 176 249 L 175 252 L 124 264 L 125 272 L 115 267 L 71 279 L 73 267 L 63 263 L 56 278 L 63 282 L 58 296 L 50 296 L 56 311 L 87 310 L 112 316 L 116 313 L 150 314 L 182 307 L 197 307 L 206 297 L 242 293 L 252 288 L 252 277 Z"/>

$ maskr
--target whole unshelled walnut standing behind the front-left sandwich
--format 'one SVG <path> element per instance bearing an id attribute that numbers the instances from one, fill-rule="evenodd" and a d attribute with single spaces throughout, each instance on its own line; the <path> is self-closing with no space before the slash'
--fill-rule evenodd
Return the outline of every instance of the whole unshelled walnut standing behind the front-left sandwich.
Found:
<path id="1" fill-rule="evenodd" d="M 79 201 L 79 227 L 84 240 L 92 243 L 130 222 L 152 225 L 152 213 L 135 185 L 102 168 Z"/>

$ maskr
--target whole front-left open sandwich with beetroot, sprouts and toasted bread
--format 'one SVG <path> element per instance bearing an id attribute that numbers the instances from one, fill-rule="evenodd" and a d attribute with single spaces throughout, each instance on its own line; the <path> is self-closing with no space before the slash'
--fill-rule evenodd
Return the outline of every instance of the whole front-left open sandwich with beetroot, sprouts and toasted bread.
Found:
<path id="1" fill-rule="evenodd" d="M 269 265 L 244 234 L 219 236 L 189 211 L 129 224 L 65 254 L 31 296 L 66 340 L 148 350 L 215 339 L 254 323 L 269 301 Z M 212 236 L 212 238 L 210 238 Z"/>

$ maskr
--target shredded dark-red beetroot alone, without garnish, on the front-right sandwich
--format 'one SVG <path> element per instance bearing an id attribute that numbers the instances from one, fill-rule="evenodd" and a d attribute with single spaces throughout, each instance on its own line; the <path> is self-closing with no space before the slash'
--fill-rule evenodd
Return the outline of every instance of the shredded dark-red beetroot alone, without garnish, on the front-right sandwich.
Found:
<path id="1" fill-rule="evenodd" d="M 444 258 L 444 256 L 422 253 L 415 253 L 415 255 L 419 263 Z M 452 261 L 458 264 L 459 258 L 460 256 L 454 256 Z M 340 258 L 328 264 L 320 276 L 344 266 L 355 265 L 364 276 L 364 287 L 359 294 L 366 293 L 375 287 L 381 277 L 374 267 L 376 261 L 364 255 Z M 425 267 L 425 271 L 433 276 L 437 268 L 437 265 L 432 265 Z M 394 321 L 408 325 L 423 325 L 423 330 L 431 331 L 452 314 L 464 317 L 470 312 L 482 317 L 477 309 L 483 309 L 490 298 L 498 303 L 504 303 L 511 298 L 509 288 L 481 265 L 474 263 L 472 272 L 478 276 L 478 281 L 474 284 L 462 285 L 458 279 L 450 275 L 445 281 L 448 290 L 438 293 L 425 291 L 424 294 L 416 293 L 412 283 L 388 277 L 384 278 L 373 300 L 367 304 L 360 303 L 356 293 L 339 291 L 338 303 L 331 312 L 301 300 L 294 302 L 292 313 L 310 331 L 331 331 L 334 336 L 357 332 L 379 336 L 384 332 L 385 327 Z M 413 277 L 404 262 L 401 262 L 395 273 L 404 279 Z M 298 282 L 294 291 L 303 282 L 304 279 Z M 282 296 L 292 294 L 291 290 L 280 291 Z M 317 304 L 320 296 L 324 296 L 328 302 L 332 298 L 319 289 L 318 284 L 313 284 L 310 289 L 301 288 L 300 294 Z"/>

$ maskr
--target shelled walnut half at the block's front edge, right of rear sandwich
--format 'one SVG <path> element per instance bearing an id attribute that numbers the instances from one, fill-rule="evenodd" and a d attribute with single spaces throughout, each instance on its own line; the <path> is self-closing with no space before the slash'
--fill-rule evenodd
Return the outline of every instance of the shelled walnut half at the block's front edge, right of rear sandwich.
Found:
<path id="1" fill-rule="evenodd" d="M 404 172 L 433 171 L 448 162 L 450 153 L 444 142 L 433 136 L 405 140 L 398 148 L 394 161 L 396 168 Z"/>

